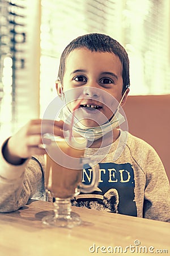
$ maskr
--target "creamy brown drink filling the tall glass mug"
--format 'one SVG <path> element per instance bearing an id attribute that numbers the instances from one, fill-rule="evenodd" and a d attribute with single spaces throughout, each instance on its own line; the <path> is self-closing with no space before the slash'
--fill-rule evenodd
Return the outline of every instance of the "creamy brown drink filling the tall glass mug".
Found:
<path id="1" fill-rule="evenodd" d="M 67 144 L 64 138 L 56 137 L 56 141 L 52 141 L 50 144 L 50 150 L 46 154 L 45 183 L 46 188 L 52 193 L 53 197 L 66 199 L 75 195 L 76 188 L 82 181 L 82 168 L 72 169 L 71 160 L 72 158 L 73 160 L 75 159 L 74 162 L 76 161 L 77 166 L 81 167 L 80 162 L 85 148 L 80 149 L 80 145 L 83 145 L 84 141 L 83 138 L 76 138 L 76 142 L 73 144 L 74 147 L 72 147 L 72 144 L 71 146 Z M 77 148 L 76 143 L 78 143 L 79 148 Z M 60 152 L 58 147 L 61 149 Z M 51 157 L 54 154 L 59 154 L 58 161 Z M 68 167 L 69 163 L 70 168 Z"/>

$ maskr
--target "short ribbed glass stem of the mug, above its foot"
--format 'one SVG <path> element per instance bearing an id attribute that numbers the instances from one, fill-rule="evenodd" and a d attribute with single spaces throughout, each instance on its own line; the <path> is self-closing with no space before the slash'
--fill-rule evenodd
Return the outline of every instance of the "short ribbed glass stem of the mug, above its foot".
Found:
<path id="1" fill-rule="evenodd" d="M 71 218 L 71 201 L 70 198 L 60 199 L 56 197 L 54 202 L 54 214 L 57 219 Z"/>

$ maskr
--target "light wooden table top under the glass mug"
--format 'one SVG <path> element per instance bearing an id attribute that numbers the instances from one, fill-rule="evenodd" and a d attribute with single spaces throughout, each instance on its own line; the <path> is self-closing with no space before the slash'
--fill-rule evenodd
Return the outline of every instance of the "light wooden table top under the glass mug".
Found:
<path id="1" fill-rule="evenodd" d="M 126 246 L 123 255 L 155 255 L 156 249 L 170 255 L 168 223 L 73 207 L 82 225 L 48 228 L 41 219 L 52 210 L 52 203 L 31 200 L 16 212 L 1 213 L 0 255 L 121 255 Z"/>

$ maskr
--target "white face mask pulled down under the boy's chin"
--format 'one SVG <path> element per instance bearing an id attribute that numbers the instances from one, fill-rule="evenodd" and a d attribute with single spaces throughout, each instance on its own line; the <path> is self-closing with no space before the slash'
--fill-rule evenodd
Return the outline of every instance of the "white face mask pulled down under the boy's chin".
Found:
<path id="1" fill-rule="evenodd" d="M 86 138 L 88 141 L 96 141 L 97 139 L 103 137 L 105 134 L 111 132 L 117 126 L 120 126 L 122 123 L 124 123 L 125 118 L 119 112 L 119 109 L 121 102 L 124 99 L 125 93 L 126 91 L 124 92 L 112 118 L 103 125 L 88 128 L 87 126 L 84 126 L 76 117 L 74 117 L 73 130 L 75 131 L 75 133 L 78 133 L 82 137 Z M 59 118 L 61 118 L 64 122 L 68 124 L 71 123 L 72 116 L 73 114 L 70 112 L 69 108 L 67 108 L 67 105 L 62 109 L 61 113 L 59 114 Z"/>

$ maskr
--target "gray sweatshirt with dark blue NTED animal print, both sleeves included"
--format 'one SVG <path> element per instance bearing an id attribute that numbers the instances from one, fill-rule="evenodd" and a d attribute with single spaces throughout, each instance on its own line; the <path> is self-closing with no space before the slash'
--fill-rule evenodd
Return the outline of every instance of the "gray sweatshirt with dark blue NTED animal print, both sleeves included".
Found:
<path id="1" fill-rule="evenodd" d="M 99 186 L 90 195 L 80 193 L 73 205 L 170 222 L 169 181 L 154 148 L 121 131 L 109 150 L 86 150 L 87 156 L 94 154 L 101 159 Z M 44 156 L 13 166 L 1 147 L 0 158 L 0 212 L 17 210 L 31 198 L 45 200 Z M 90 183 L 90 172 L 90 166 L 84 167 L 85 184 Z"/>

